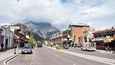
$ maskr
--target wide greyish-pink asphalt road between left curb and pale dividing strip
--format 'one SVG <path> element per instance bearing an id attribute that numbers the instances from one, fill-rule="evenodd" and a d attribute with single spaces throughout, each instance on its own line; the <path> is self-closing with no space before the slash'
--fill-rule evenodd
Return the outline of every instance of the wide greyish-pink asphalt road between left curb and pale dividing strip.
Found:
<path id="1" fill-rule="evenodd" d="M 33 54 L 22 54 L 8 65 L 107 65 L 104 63 L 73 56 L 50 48 L 36 48 Z"/>

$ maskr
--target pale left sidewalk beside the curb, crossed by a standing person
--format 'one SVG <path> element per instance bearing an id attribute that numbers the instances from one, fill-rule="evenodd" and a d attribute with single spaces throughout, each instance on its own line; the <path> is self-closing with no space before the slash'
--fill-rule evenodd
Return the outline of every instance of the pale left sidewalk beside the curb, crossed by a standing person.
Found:
<path id="1" fill-rule="evenodd" d="M 16 51 L 17 51 L 17 53 L 20 53 L 20 49 L 17 49 Z M 2 62 L 3 60 L 5 60 L 8 57 L 11 57 L 13 55 L 14 55 L 14 49 L 0 52 L 0 62 Z"/>

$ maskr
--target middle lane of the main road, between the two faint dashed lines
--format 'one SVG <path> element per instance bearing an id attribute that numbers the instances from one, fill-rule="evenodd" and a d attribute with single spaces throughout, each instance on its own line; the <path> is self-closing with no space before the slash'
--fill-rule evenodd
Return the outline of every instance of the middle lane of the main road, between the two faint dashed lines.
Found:
<path id="1" fill-rule="evenodd" d="M 60 59 L 52 49 L 38 48 L 36 65 L 72 65 L 73 63 L 66 59 Z M 38 61 L 38 62 L 37 62 Z"/>

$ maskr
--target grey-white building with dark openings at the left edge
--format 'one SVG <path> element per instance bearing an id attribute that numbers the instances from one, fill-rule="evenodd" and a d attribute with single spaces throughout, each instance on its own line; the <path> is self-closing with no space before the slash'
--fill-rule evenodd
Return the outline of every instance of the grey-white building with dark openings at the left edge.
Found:
<path id="1" fill-rule="evenodd" d="M 9 49 L 13 47 L 13 32 L 10 30 L 9 26 L 2 25 L 0 27 L 0 44 L 3 44 L 3 49 Z"/>

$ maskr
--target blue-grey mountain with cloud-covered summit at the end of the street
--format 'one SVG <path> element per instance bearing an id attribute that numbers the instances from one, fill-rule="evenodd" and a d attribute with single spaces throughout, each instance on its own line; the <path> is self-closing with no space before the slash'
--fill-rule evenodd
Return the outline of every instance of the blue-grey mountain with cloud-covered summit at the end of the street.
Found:
<path id="1" fill-rule="evenodd" d="M 31 30 L 34 31 L 37 35 L 39 35 L 40 37 L 49 37 L 52 34 L 59 32 L 59 30 L 52 26 L 50 23 L 45 23 L 45 22 L 26 22 L 25 25 Z"/>

